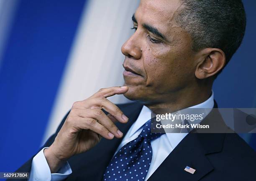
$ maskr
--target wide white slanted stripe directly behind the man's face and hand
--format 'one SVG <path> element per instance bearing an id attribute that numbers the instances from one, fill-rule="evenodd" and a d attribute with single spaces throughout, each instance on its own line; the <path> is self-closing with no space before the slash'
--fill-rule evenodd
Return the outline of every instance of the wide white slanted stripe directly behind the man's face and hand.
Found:
<path id="1" fill-rule="evenodd" d="M 43 143 L 56 131 L 75 101 L 88 98 L 100 88 L 123 85 L 122 44 L 133 31 L 131 16 L 138 0 L 90 0 L 84 8 L 77 36 L 69 55 L 58 96 Z M 128 101 L 123 96 L 114 103 Z"/>

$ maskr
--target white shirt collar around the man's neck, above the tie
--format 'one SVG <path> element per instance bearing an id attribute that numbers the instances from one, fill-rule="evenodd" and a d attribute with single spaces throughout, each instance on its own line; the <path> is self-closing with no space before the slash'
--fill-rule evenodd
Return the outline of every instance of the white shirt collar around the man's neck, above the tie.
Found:
<path id="1" fill-rule="evenodd" d="M 212 91 L 212 95 L 206 101 L 200 104 L 197 104 L 195 106 L 191 106 L 189 108 L 210 108 L 211 109 L 213 108 L 213 106 L 214 106 L 214 96 Z M 207 116 L 207 114 L 205 114 L 205 116 Z M 138 129 L 140 129 L 150 119 L 151 119 L 151 110 L 148 107 L 143 106 L 141 109 L 141 113 L 139 114 L 137 120 L 135 121 L 135 123 L 133 123 L 131 127 L 131 131 L 129 131 L 130 132 L 129 137 L 131 137 L 134 133 L 136 133 L 136 131 L 138 131 Z M 172 147 L 174 148 L 187 135 L 187 133 L 166 133 L 166 135 Z"/>

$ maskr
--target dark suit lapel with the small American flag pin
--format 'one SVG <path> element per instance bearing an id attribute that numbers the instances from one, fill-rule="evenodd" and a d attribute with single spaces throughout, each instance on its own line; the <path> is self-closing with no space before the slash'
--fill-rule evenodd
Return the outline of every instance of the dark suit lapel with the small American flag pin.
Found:
<path id="1" fill-rule="evenodd" d="M 197 134 L 188 134 L 161 163 L 148 181 L 198 181 L 213 170 L 205 153 Z M 195 173 L 184 171 L 186 166 L 196 169 Z"/>

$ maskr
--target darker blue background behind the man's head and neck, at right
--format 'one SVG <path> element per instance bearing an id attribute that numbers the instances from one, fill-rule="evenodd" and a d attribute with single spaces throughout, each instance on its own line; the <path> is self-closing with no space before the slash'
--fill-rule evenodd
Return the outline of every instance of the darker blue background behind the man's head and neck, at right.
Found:
<path id="1" fill-rule="evenodd" d="M 243 3 L 247 15 L 243 43 L 213 85 L 220 108 L 256 108 L 256 1 Z M 256 150 L 256 134 L 241 136 Z"/>

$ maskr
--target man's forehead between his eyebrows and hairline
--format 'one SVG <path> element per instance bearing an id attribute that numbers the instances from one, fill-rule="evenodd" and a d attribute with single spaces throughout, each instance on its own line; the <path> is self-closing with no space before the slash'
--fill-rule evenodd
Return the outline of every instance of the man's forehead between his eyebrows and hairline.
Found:
<path id="1" fill-rule="evenodd" d="M 141 0 L 135 17 L 141 23 L 168 26 L 174 24 L 173 17 L 179 7 L 179 0 Z"/>

